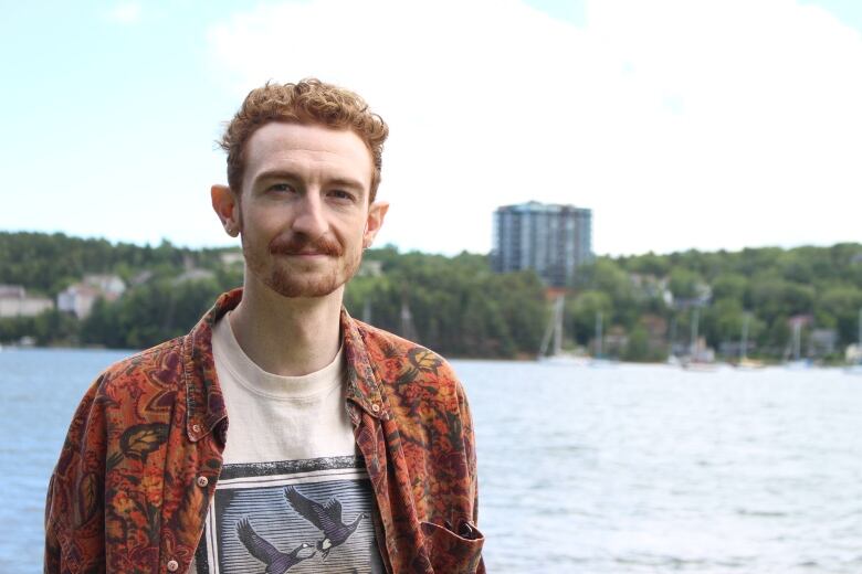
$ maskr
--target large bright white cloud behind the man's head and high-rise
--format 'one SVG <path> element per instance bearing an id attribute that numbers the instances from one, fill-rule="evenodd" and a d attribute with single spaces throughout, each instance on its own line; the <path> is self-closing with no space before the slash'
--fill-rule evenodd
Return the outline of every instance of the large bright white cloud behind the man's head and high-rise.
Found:
<path id="1" fill-rule="evenodd" d="M 817 7 L 309 0 L 210 44 L 238 104 L 315 75 L 383 115 L 383 242 L 487 251 L 529 199 L 592 208 L 599 253 L 860 240 L 862 39 Z"/>

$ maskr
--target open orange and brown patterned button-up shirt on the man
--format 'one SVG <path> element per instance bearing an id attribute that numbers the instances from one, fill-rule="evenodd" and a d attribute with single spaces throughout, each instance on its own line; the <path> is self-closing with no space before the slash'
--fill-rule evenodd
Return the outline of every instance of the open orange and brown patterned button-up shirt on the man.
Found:
<path id="1" fill-rule="evenodd" d="M 51 477 L 45 572 L 186 572 L 229 436 L 212 327 L 120 361 L 81 402 Z M 484 572 L 464 391 L 433 352 L 341 312 L 347 408 L 374 487 L 389 572 Z"/>

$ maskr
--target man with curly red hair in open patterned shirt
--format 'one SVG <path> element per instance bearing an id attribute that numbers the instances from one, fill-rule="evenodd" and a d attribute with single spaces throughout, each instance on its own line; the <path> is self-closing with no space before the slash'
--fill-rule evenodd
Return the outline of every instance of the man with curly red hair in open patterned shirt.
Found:
<path id="1" fill-rule="evenodd" d="M 45 572 L 484 570 L 463 389 L 341 307 L 387 212 L 387 132 L 316 79 L 249 94 L 222 139 L 230 187 L 211 191 L 243 288 L 86 393 Z"/>

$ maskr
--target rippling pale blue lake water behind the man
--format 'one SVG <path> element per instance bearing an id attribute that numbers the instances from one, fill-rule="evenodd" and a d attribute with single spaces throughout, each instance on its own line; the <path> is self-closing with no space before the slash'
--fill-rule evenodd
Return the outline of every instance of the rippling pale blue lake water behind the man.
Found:
<path id="1" fill-rule="evenodd" d="M 0 573 L 41 572 L 70 418 L 125 354 L 0 352 Z M 490 572 L 862 572 L 862 376 L 453 364 Z"/>

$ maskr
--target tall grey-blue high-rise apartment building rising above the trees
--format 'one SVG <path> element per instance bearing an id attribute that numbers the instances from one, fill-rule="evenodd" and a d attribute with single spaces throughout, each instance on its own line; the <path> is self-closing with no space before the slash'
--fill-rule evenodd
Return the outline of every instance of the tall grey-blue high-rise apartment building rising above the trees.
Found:
<path id="1" fill-rule="evenodd" d="M 496 273 L 534 269 L 548 286 L 565 287 L 590 261 L 590 210 L 530 201 L 494 212 L 491 264 Z"/>

